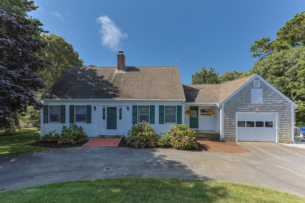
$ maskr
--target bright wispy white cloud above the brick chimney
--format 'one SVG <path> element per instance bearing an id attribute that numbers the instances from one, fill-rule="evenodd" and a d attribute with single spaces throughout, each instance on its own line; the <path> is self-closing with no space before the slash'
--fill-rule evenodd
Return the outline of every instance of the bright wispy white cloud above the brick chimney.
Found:
<path id="1" fill-rule="evenodd" d="M 99 32 L 102 34 L 102 45 L 109 47 L 112 51 L 122 49 L 121 39 L 127 38 L 128 34 L 116 26 L 116 24 L 108 16 L 100 16 L 96 19 L 101 23 Z"/>

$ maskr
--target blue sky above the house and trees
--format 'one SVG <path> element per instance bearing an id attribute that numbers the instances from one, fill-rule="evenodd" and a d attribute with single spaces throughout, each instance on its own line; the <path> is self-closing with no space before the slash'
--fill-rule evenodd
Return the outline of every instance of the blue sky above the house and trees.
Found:
<path id="1" fill-rule="evenodd" d="M 38 1 L 29 15 L 64 37 L 85 64 L 176 65 L 183 84 L 212 65 L 220 74 L 248 71 L 257 58 L 249 47 L 279 28 L 305 1 Z M 102 30 L 102 31 L 101 31 Z M 103 39 L 102 39 L 103 37 Z"/>

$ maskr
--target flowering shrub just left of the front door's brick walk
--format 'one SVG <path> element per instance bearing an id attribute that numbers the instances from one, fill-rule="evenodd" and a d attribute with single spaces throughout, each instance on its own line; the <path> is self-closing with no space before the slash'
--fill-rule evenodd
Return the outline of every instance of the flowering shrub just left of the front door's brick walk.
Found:
<path id="1" fill-rule="evenodd" d="M 70 127 L 63 125 L 61 131 L 61 138 L 58 139 L 58 144 L 76 144 L 88 140 L 88 135 L 84 132 L 84 129 L 77 124 L 70 124 Z"/>

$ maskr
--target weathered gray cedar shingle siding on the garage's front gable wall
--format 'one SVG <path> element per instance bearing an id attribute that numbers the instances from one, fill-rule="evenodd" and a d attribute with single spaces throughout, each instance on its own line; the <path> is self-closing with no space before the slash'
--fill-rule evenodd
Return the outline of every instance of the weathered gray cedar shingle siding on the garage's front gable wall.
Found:
<path id="1" fill-rule="evenodd" d="M 251 89 L 263 89 L 263 103 L 251 103 Z M 254 81 L 236 93 L 224 104 L 224 139 L 235 139 L 236 112 L 278 112 L 278 139 L 291 140 L 291 104 L 274 92 L 263 81 L 260 88 Z"/>

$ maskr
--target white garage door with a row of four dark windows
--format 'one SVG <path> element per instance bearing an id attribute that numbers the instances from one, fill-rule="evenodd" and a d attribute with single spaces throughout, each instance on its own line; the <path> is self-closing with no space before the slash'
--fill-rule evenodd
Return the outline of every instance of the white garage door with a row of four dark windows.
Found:
<path id="1" fill-rule="evenodd" d="M 276 114 L 237 114 L 237 141 L 276 142 Z"/>

